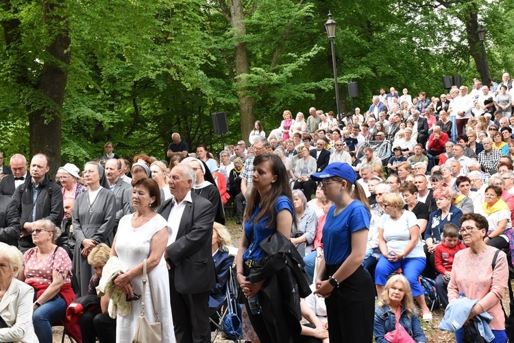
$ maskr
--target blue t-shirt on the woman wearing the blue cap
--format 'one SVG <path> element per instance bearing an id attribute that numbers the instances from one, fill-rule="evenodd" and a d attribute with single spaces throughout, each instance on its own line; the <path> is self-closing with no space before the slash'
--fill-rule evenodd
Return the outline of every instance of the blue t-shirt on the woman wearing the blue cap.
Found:
<path id="1" fill-rule="evenodd" d="M 323 250 L 328 265 L 343 263 L 352 252 L 352 233 L 369 229 L 369 213 L 361 202 L 352 201 L 334 216 L 335 205 L 328 210 L 323 226 Z"/>

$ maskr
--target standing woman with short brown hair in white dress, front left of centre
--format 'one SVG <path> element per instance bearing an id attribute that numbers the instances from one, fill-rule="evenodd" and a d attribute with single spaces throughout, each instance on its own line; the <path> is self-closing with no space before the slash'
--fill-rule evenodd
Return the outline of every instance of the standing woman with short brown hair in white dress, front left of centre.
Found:
<path id="1" fill-rule="evenodd" d="M 156 322 L 154 306 L 158 309 L 162 325 L 162 342 L 175 342 L 169 279 L 164 249 L 168 242 L 168 227 L 164 218 L 155 212 L 160 205 L 160 190 L 152 179 L 134 180 L 132 205 L 136 213 L 121 218 L 118 232 L 110 256 L 117 256 L 128 268 L 127 272 L 114 279 L 114 285 L 122 289 L 130 298 L 143 291 L 143 259 L 147 259 L 147 270 L 151 287 L 146 287 L 145 317 Z M 156 304 L 152 302 L 154 293 Z M 132 300 L 132 313 L 118 316 L 116 322 L 116 342 L 132 342 L 141 311 L 141 300 Z"/>

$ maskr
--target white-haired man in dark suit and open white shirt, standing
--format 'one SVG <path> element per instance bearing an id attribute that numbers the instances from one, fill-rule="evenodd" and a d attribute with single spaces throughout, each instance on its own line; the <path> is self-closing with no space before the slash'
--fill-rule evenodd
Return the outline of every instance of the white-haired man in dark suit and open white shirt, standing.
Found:
<path id="1" fill-rule="evenodd" d="M 215 211 L 209 200 L 191 191 L 196 175 L 189 165 L 171 169 L 173 198 L 162 204 L 171 237 L 164 258 L 169 263 L 169 288 L 175 338 L 181 343 L 209 343 L 209 290 L 216 284 L 212 259 Z"/>

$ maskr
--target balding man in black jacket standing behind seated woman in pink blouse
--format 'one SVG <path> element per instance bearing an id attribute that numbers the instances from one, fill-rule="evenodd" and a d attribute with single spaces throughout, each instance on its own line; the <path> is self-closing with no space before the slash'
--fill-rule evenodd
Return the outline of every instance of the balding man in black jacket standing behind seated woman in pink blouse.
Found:
<path id="1" fill-rule="evenodd" d="M 45 154 L 34 155 L 30 162 L 31 177 L 27 178 L 12 196 L 16 200 L 21 217 L 18 238 L 18 248 L 21 252 L 34 247 L 30 232 L 34 229 L 33 224 L 36 220 L 51 220 L 59 227 L 64 217 L 61 189 L 56 182 L 51 182 L 47 178 L 49 170 L 48 157 Z"/>

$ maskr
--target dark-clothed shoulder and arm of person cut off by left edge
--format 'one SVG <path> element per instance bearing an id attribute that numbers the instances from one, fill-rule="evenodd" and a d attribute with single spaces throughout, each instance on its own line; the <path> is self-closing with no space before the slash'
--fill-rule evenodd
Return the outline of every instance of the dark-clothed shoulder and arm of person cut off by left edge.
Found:
<path id="1" fill-rule="evenodd" d="M 17 248 L 20 228 L 20 213 L 16 200 L 9 196 L 0 196 L 0 241 Z"/>

